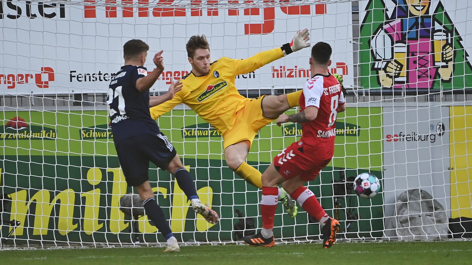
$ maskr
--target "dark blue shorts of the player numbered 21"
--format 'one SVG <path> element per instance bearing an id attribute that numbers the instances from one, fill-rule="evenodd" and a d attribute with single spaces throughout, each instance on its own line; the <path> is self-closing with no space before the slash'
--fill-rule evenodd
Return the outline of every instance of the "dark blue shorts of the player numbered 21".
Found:
<path id="1" fill-rule="evenodd" d="M 129 137 L 121 140 L 115 147 L 128 186 L 139 186 L 149 180 L 149 161 L 166 170 L 177 154 L 174 146 L 162 133 Z"/>

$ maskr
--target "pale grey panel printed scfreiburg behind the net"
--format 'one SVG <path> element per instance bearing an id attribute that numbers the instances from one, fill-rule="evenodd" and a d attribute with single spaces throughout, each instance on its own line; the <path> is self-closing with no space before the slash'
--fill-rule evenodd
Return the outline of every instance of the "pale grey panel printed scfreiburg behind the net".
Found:
<path id="1" fill-rule="evenodd" d="M 449 107 L 384 107 L 383 196 L 386 217 L 395 216 L 401 193 L 430 193 L 450 217 Z"/>

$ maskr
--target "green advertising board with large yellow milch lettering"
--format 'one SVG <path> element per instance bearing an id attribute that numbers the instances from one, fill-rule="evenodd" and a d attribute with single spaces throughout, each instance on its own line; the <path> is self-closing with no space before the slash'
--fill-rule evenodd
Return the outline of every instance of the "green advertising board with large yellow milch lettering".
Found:
<path id="1" fill-rule="evenodd" d="M 288 113 L 288 112 L 287 112 Z M 346 113 L 346 117 L 344 117 Z M 309 187 L 330 215 L 333 213 L 333 180 L 346 168 L 346 177 L 371 172 L 381 179 L 382 119 L 380 108 L 352 108 L 339 113 L 335 157 Z M 1 213 L 3 219 L 21 223 L 11 236 L 16 244 L 131 242 L 130 223 L 119 210 L 119 198 L 133 192 L 126 186 L 119 168 L 108 127 L 106 111 L 2 112 L 0 127 L 0 193 L 11 202 Z M 158 202 L 181 241 L 235 241 L 233 225 L 239 221 L 235 210 L 255 217 L 261 226 L 261 192 L 248 185 L 224 161 L 222 138 L 217 131 L 190 110 L 173 110 L 158 120 L 196 178 L 197 193 L 210 203 L 220 217 L 208 224 L 189 210 L 190 201 L 167 172 L 151 164 L 149 177 Z M 300 137 L 301 128 L 272 123 L 256 136 L 248 163 L 263 171 L 272 158 Z M 371 200 L 356 195 L 337 200 L 360 220 L 347 237 L 381 237 L 382 196 Z M 344 211 L 338 217 L 345 220 Z M 342 222 L 342 225 L 345 222 Z M 141 217 L 139 234 L 147 242 L 164 241 L 156 228 Z M 344 229 L 344 228 L 343 228 Z M 0 227 L 1 237 L 11 230 Z M 318 239 L 317 223 L 300 209 L 290 218 L 278 207 L 276 234 L 284 238 Z M 142 235 L 143 234 L 143 235 Z"/>

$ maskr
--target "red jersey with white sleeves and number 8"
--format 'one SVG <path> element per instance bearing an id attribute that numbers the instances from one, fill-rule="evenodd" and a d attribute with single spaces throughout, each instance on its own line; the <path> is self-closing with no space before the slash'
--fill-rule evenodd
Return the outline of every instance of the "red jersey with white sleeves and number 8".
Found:
<path id="1" fill-rule="evenodd" d="M 306 81 L 299 103 L 301 111 L 308 106 L 318 109 L 315 120 L 302 123 L 300 141 L 316 149 L 313 158 L 331 159 L 336 137 L 336 110 L 346 103 L 339 81 L 332 74 L 315 74 Z"/>

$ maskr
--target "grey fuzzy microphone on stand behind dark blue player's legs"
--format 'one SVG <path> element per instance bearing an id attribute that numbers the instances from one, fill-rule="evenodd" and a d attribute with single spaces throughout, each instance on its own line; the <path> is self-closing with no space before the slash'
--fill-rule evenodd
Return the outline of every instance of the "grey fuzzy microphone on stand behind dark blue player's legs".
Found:
<path id="1" fill-rule="evenodd" d="M 135 243 L 143 242 L 139 235 L 138 228 L 138 219 L 144 215 L 144 206 L 143 201 L 137 194 L 127 193 L 119 199 L 119 209 L 125 214 L 125 220 L 128 220 L 129 224 L 129 233 L 134 238 Z M 134 228 L 134 233 L 133 233 Z"/>

